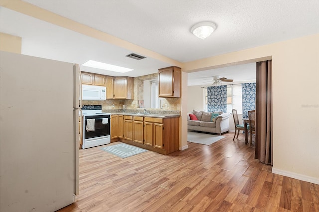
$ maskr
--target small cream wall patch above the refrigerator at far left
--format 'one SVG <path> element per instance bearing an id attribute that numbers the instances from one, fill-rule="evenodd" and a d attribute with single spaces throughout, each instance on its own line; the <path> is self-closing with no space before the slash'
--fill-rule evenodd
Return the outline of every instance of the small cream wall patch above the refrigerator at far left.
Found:
<path id="1" fill-rule="evenodd" d="M 22 38 L 1 33 L 0 34 L 0 50 L 21 54 Z"/>

